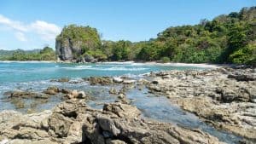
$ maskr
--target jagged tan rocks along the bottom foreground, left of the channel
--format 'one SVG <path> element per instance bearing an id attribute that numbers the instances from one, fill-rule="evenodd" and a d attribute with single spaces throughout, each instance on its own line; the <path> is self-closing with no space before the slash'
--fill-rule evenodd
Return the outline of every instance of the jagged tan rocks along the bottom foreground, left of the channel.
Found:
<path id="1" fill-rule="evenodd" d="M 83 101 L 65 101 L 53 112 L 22 115 L 0 112 L 0 141 L 11 143 L 222 143 L 201 130 L 140 118 L 137 107 L 106 104 L 103 110 Z"/>

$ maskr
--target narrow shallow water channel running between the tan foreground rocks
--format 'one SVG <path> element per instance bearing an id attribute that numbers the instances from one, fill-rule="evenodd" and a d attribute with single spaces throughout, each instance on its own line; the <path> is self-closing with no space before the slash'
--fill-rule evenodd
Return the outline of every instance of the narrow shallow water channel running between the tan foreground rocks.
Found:
<path id="1" fill-rule="evenodd" d="M 166 97 L 149 94 L 148 89 L 132 89 L 127 93 L 127 97 L 134 100 L 132 104 L 143 112 L 145 118 L 200 129 L 227 143 L 238 143 L 241 140 L 239 136 L 223 130 L 215 130 L 212 126 L 202 122 L 195 114 L 184 112 L 180 107 L 173 105 Z"/>

